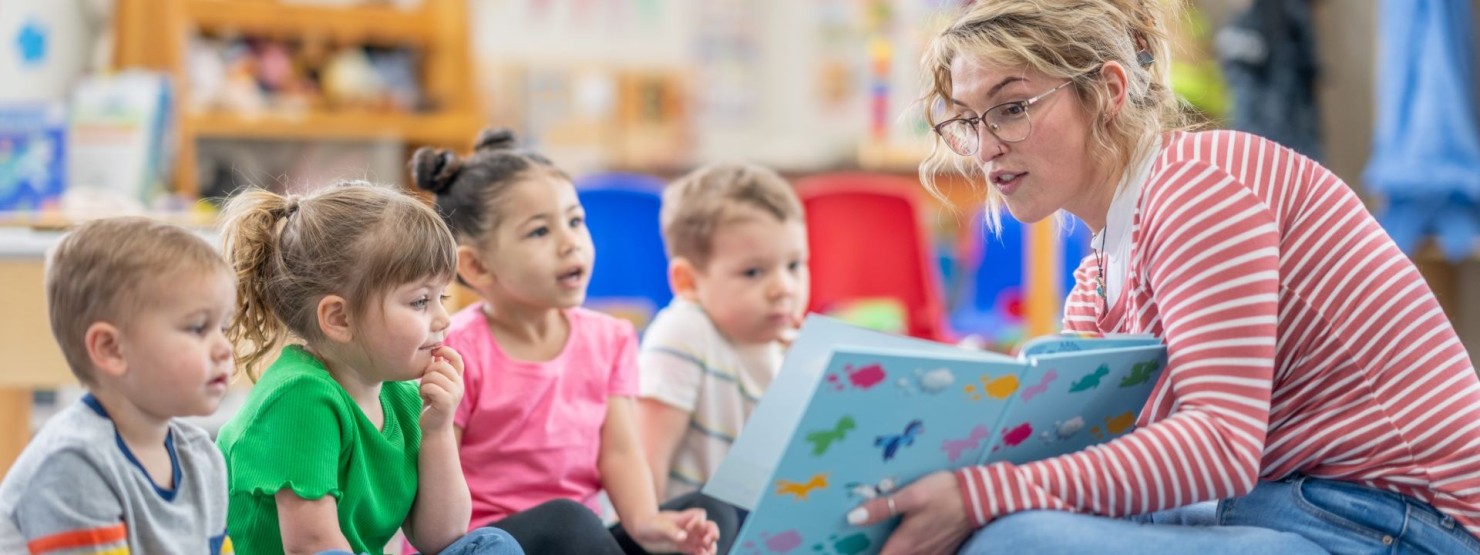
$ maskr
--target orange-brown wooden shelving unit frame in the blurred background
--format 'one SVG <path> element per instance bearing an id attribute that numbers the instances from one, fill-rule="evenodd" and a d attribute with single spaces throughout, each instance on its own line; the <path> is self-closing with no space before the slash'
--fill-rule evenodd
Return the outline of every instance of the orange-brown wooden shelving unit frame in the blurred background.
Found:
<path id="1" fill-rule="evenodd" d="M 463 148 L 484 124 L 474 102 L 466 0 L 422 0 L 417 7 L 351 7 L 275 0 L 118 0 L 114 62 L 120 68 L 164 71 L 176 84 L 178 155 L 175 189 L 198 197 L 200 139 L 370 141 L 408 147 Z M 420 90 L 429 111 L 329 111 L 260 114 L 194 111 L 186 49 L 195 34 L 243 34 L 329 40 L 336 44 L 406 46 L 420 56 Z"/>

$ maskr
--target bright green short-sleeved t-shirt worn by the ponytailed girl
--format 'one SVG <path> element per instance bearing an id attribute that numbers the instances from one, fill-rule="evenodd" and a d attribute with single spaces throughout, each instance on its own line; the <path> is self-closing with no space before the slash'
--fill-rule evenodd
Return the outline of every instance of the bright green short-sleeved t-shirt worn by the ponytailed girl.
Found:
<path id="1" fill-rule="evenodd" d="M 300 346 L 281 357 L 221 428 L 229 506 L 226 530 L 238 554 L 281 554 L 277 500 L 334 496 L 339 531 L 357 554 L 380 554 L 411 514 L 422 444 L 422 400 L 413 382 L 380 386 L 385 425 L 376 429 L 329 370 Z"/>

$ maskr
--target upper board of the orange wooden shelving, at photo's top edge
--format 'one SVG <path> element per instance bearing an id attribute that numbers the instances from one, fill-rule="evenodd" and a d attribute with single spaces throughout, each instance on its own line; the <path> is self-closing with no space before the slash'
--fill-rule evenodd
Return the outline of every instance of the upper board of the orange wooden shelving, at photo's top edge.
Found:
<path id="1" fill-rule="evenodd" d="M 185 16 L 212 34 L 321 36 L 343 43 L 425 43 L 437 33 L 425 10 L 388 6 L 297 6 L 272 0 L 186 0 Z"/>

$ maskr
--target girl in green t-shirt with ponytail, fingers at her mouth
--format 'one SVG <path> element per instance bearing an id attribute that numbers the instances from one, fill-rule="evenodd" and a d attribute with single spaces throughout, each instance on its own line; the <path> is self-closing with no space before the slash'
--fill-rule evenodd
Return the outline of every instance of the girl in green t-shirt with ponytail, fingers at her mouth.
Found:
<path id="1" fill-rule="evenodd" d="M 240 278 L 229 334 L 256 382 L 218 438 L 241 551 L 382 554 L 403 528 L 429 554 L 521 554 L 497 530 L 463 536 L 462 358 L 441 305 L 457 253 L 437 213 L 360 182 L 246 191 L 223 235 Z"/>

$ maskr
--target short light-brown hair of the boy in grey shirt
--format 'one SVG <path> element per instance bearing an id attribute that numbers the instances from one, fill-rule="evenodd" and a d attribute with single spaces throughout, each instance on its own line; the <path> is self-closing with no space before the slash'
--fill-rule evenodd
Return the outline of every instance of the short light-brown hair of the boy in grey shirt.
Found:
<path id="1" fill-rule="evenodd" d="M 160 295 L 166 278 L 219 271 L 226 260 L 206 240 L 148 218 L 110 218 L 78 225 L 46 258 L 46 306 L 67 366 L 93 382 L 87 329 L 99 321 L 127 327 L 129 317 Z"/>

